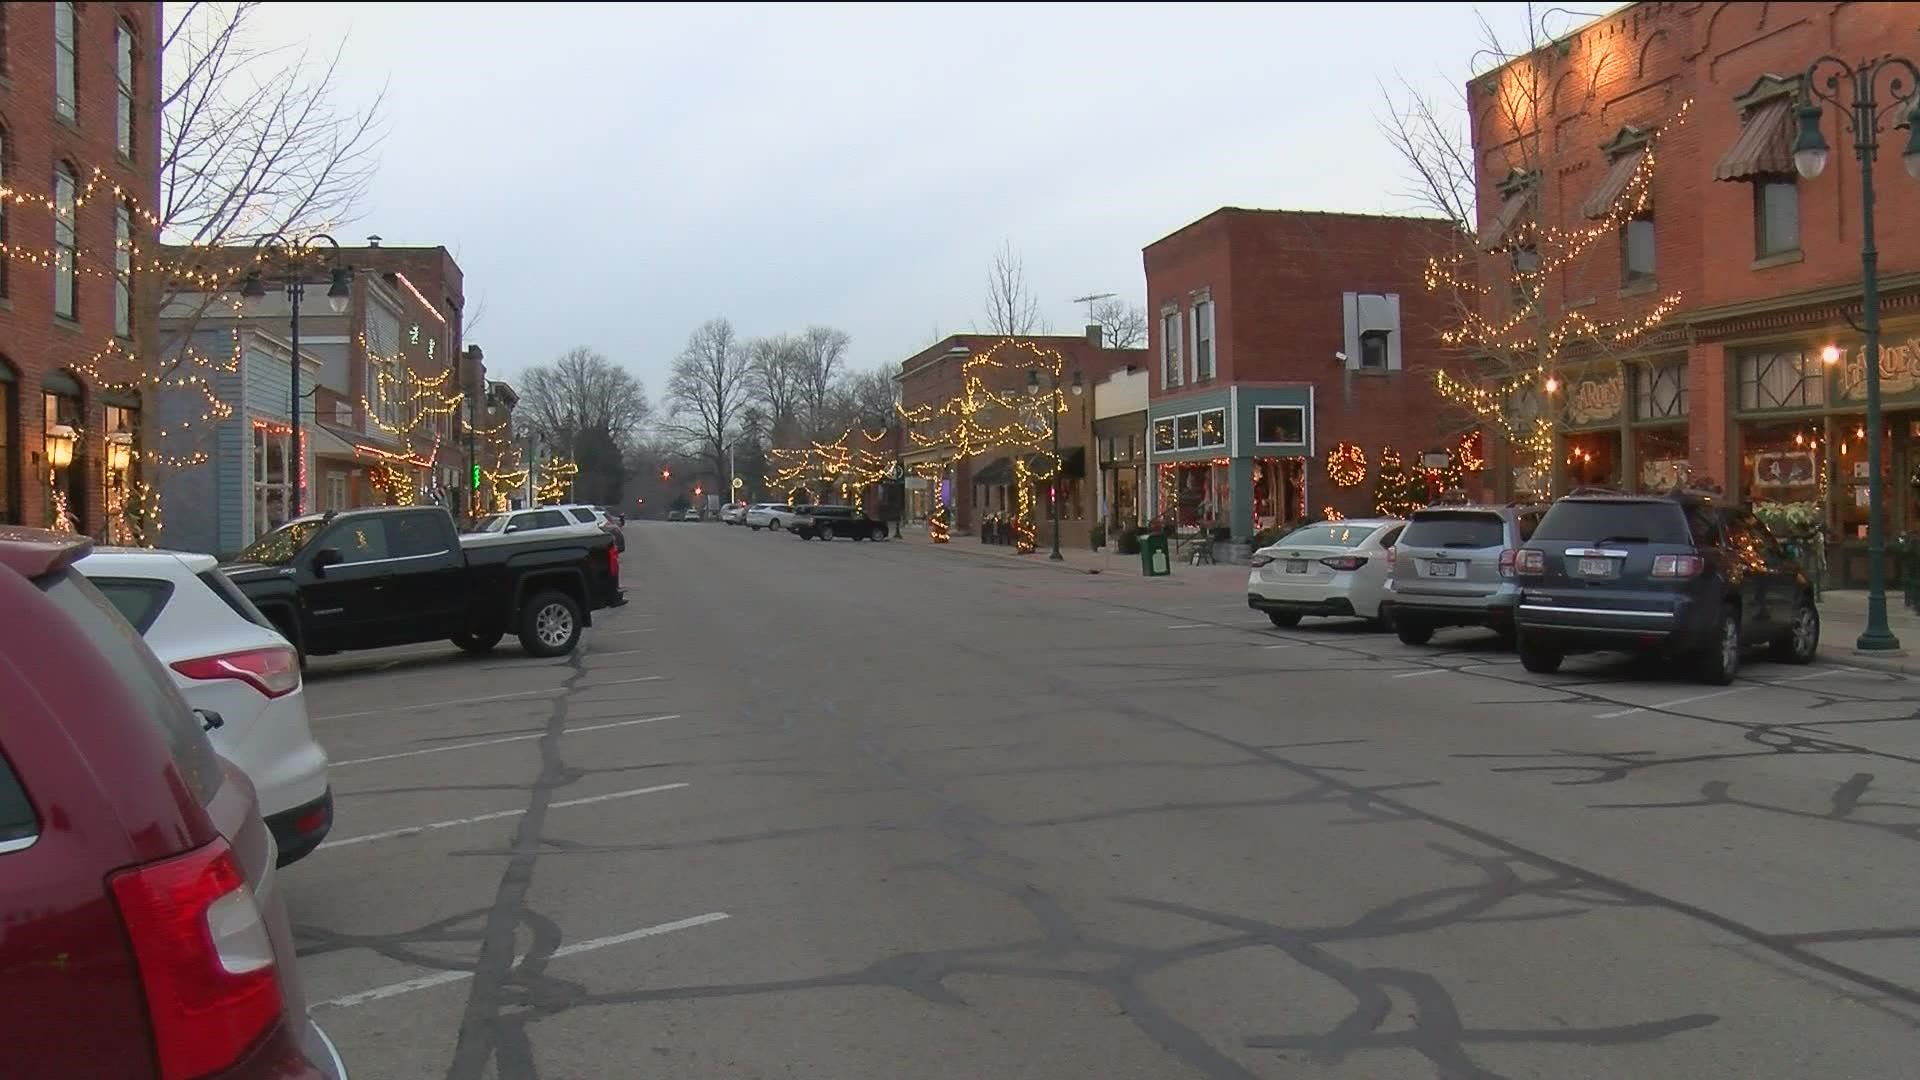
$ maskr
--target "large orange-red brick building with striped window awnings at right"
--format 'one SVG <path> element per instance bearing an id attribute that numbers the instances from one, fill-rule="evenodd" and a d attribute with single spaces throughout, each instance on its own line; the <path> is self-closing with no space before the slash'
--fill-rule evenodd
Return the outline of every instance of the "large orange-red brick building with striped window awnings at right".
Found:
<path id="1" fill-rule="evenodd" d="M 1634 4 L 1469 85 L 1492 281 L 1519 248 L 1503 233 L 1526 200 L 1548 227 L 1605 223 L 1603 204 L 1649 144 L 1655 154 L 1645 211 L 1540 282 L 1557 311 L 1603 323 L 1672 304 L 1630 346 L 1572 354 L 1551 373 L 1557 490 L 1692 479 L 1755 503 L 1803 503 L 1828 523 L 1839 577 L 1864 577 L 1860 173 L 1828 106 L 1832 163 L 1814 181 L 1795 175 L 1793 104 L 1816 56 L 1880 56 L 1916 31 L 1910 4 Z M 1503 102 L 1526 86 L 1546 88 L 1519 110 L 1538 121 L 1515 123 Z M 1874 173 L 1889 436 L 1880 469 L 1889 527 L 1912 532 L 1920 183 L 1899 165 L 1907 133 L 1891 123 Z"/>

